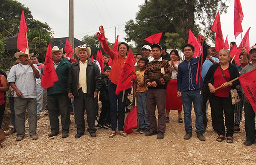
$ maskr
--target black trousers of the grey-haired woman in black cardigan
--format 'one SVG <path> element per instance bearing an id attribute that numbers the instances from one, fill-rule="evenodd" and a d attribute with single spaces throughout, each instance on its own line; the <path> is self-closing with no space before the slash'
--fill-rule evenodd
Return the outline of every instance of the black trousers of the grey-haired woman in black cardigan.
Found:
<path id="1" fill-rule="evenodd" d="M 213 94 L 209 94 L 209 102 L 211 105 L 212 113 L 215 117 L 215 131 L 218 135 L 225 135 L 225 125 L 227 128 L 226 137 L 233 137 L 234 134 L 234 105 L 232 104 L 231 97 L 216 97 Z"/>

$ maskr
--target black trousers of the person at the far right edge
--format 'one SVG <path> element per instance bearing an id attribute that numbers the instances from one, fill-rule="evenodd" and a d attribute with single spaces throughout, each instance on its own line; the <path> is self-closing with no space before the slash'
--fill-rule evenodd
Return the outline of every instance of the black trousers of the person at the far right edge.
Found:
<path id="1" fill-rule="evenodd" d="M 255 112 L 251 104 L 244 102 L 244 119 L 245 119 L 245 133 L 246 141 L 255 142 Z"/>

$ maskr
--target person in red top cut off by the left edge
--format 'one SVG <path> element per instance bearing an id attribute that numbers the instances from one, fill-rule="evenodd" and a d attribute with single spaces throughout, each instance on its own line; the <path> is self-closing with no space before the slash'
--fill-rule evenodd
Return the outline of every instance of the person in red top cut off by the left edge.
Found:
<path id="1" fill-rule="evenodd" d="M 6 77 L 0 74 L 0 128 L 2 126 L 3 114 L 5 110 L 5 100 L 4 100 L 3 92 L 8 91 L 8 89 L 9 88 L 8 88 Z"/>

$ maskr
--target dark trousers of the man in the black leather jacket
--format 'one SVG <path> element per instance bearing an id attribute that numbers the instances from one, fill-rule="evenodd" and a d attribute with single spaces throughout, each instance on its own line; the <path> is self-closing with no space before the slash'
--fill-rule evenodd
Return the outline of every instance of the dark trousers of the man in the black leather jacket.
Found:
<path id="1" fill-rule="evenodd" d="M 78 90 L 78 96 L 74 96 L 74 105 L 75 105 L 75 119 L 77 126 L 77 133 L 84 134 L 85 125 L 84 125 L 84 110 L 86 109 L 86 117 L 89 133 L 96 132 L 95 128 L 95 98 L 93 96 L 88 96 L 83 93 L 82 88 Z"/>

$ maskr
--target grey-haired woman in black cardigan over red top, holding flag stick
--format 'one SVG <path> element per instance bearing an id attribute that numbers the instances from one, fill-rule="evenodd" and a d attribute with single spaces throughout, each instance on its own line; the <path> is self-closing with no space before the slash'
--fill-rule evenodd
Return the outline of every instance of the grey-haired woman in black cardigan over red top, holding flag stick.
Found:
<path id="1" fill-rule="evenodd" d="M 212 112 L 212 126 L 218 133 L 218 142 L 222 142 L 225 137 L 225 126 L 223 111 L 225 114 L 225 125 L 227 128 L 227 143 L 233 142 L 234 134 L 234 105 L 232 104 L 230 89 L 239 85 L 239 80 L 228 83 L 230 80 L 239 77 L 239 72 L 235 65 L 229 62 L 230 51 L 222 49 L 219 52 L 220 63 L 212 65 L 205 78 L 205 83 L 209 86 L 209 102 Z M 216 90 L 221 86 L 222 88 Z"/>

